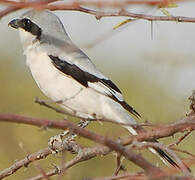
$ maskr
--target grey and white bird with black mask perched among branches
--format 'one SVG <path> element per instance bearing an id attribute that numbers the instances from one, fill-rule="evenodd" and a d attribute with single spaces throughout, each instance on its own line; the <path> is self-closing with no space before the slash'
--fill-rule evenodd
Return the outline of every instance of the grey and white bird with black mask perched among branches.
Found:
<path id="1" fill-rule="evenodd" d="M 71 116 L 103 119 L 125 126 L 133 135 L 140 114 L 123 98 L 121 90 L 78 48 L 61 20 L 49 10 L 28 10 L 9 22 L 19 30 L 26 65 L 40 88 Z M 132 116 L 133 115 L 133 116 Z M 157 142 L 154 140 L 153 142 Z M 172 166 L 179 165 L 160 148 L 150 148 Z"/>

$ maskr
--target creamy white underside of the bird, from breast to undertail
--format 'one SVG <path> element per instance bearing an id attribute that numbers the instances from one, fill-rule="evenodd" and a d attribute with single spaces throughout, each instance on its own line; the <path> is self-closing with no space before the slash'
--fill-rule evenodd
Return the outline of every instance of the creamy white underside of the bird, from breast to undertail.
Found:
<path id="1" fill-rule="evenodd" d="M 37 53 L 31 49 L 25 54 L 26 63 L 41 91 L 53 101 L 61 101 L 60 105 L 68 114 L 80 118 L 135 123 L 119 103 L 60 72 L 45 52 Z"/>

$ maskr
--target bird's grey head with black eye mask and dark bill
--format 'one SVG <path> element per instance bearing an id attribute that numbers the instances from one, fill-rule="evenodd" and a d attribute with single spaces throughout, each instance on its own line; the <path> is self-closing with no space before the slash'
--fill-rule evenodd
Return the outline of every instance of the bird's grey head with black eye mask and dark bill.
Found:
<path id="1" fill-rule="evenodd" d="M 20 18 L 10 21 L 8 26 L 19 30 L 24 49 L 37 41 L 55 44 L 69 38 L 59 18 L 47 10 L 27 11 Z"/>

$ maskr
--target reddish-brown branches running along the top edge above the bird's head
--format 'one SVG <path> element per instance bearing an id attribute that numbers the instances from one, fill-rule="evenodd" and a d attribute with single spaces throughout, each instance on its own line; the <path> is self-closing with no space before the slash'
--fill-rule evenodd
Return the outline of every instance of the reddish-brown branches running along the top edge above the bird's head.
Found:
<path id="1" fill-rule="evenodd" d="M 52 11 L 54 10 L 70 10 L 70 11 L 80 11 L 87 14 L 94 15 L 97 19 L 100 19 L 102 17 L 114 17 L 114 16 L 124 16 L 124 17 L 131 17 L 136 19 L 144 19 L 148 21 L 176 21 L 176 22 L 188 22 L 188 23 L 194 23 L 195 18 L 191 17 L 183 17 L 183 16 L 152 16 L 152 15 L 146 15 L 146 14 L 139 14 L 139 13 L 132 13 L 129 11 L 124 10 L 124 7 L 128 6 L 129 4 L 150 4 L 150 5 L 158 5 L 158 6 L 166 6 L 167 3 L 170 3 L 169 1 L 161 0 L 161 1 L 139 1 L 139 0 L 131 0 L 131 1 L 117 1 L 117 2 L 109 2 L 109 1 L 79 1 L 79 2 L 70 2 L 70 3 L 56 3 L 56 4 L 50 4 L 51 2 L 55 2 L 57 0 L 53 1 L 34 1 L 34 2 L 17 2 L 17 1 L 10 1 L 10 0 L 0 0 L 1 4 L 11 5 L 16 10 L 23 9 L 23 8 L 36 8 L 36 9 L 50 9 Z M 176 1 L 171 1 L 176 2 Z M 116 12 L 106 12 L 106 11 L 98 11 L 98 10 L 92 10 L 89 8 L 84 8 L 82 6 L 95 6 L 98 8 L 101 7 L 118 7 L 122 10 L 116 11 Z M 7 13 L 13 12 L 13 10 L 9 10 Z M 5 14 L 7 14 L 5 13 Z M 1 15 L 2 14 L 2 15 Z M 2 17 L 4 13 L 0 12 L 0 17 Z"/>

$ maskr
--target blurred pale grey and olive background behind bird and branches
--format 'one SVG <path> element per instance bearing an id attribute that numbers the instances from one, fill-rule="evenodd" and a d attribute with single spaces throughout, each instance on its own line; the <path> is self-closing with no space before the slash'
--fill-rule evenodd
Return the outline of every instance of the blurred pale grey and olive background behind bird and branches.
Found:
<path id="1" fill-rule="evenodd" d="M 194 2 L 185 2 L 178 4 L 177 8 L 167 10 L 175 16 L 195 17 L 194 7 Z M 129 10 L 163 15 L 157 8 L 148 6 L 132 6 Z M 35 97 L 44 100 L 47 98 L 40 92 L 25 66 L 16 30 L 7 26 L 11 19 L 20 16 L 22 12 L 11 13 L 0 19 L 0 112 L 62 120 L 63 115 L 34 103 Z M 153 123 L 171 123 L 185 117 L 189 107 L 187 98 L 195 88 L 195 24 L 151 24 L 137 20 L 112 30 L 127 18 L 110 17 L 98 21 L 94 16 L 80 12 L 57 11 L 55 14 L 62 20 L 71 39 L 116 83 L 127 102 L 140 112 L 143 118 L 139 122 L 147 120 Z M 102 39 L 103 41 L 99 41 Z M 74 118 L 67 118 L 78 122 Z M 123 128 L 107 123 L 104 126 L 93 123 L 88 129 L 113 138 L 121 134 L 123 137 L 127 136 Z M 59 132 L 1 122 L 0 170 L 29 153 L 47 147 L 49 137 Z M 162 141 L 169 144 L 178 137 L 179 135 Z M 83 146 L 93 145 L 83 138 L 77 140 Z M 185 139 L 180 147 L 193 152 L 194 135 Z M 156 156 L 147 151 L 144 154 L 150 162 L 165 168 Z M 187 158 L 182 154 L 180 156 Z M 39 174 L 37 165 L 45 171 L 51 170 L 52 164 L 60 164 L 61 157 L 61 154 L 49 156 L 7 179 L 26 179 Z M 70 153 L 64 154 L 65 161 L 72 157 Z M 140 170 L 128 161 L 124 161 L 124 165 L 130 172 Z M 115 156 L 110 154 L 74 166 L 66 172 L 66 179 L 110 176 L 114 168 Z"/>

